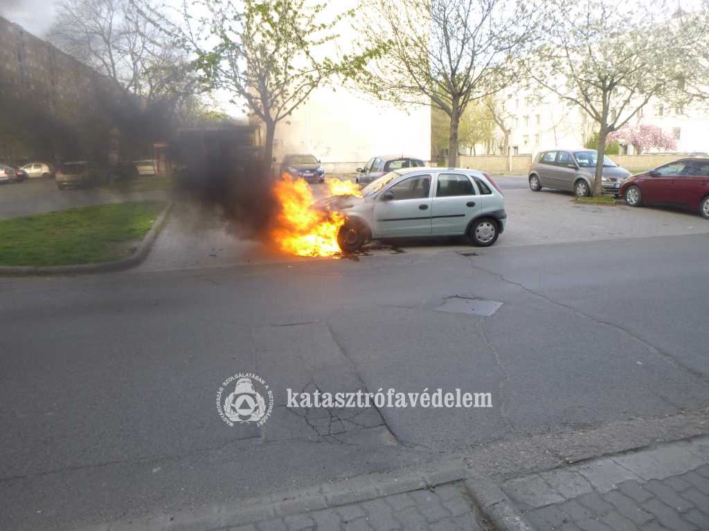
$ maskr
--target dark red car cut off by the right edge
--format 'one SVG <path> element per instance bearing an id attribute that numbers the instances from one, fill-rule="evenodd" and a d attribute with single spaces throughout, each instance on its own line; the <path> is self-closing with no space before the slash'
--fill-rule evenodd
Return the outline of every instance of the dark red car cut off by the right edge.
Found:
<path id="1" fill-rule="evenodd" d="M 638 173 L 620 185 L 620 197 L 631 207 L 689 208 L 709 219 L 709 159 L 681 159 Z"/>

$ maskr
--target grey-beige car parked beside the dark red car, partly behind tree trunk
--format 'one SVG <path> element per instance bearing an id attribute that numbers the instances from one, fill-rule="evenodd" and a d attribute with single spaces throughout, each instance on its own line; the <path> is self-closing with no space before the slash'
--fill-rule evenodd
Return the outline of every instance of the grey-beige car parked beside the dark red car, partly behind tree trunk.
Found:
<path id="1" fill-rule="evenodd" d="M 530 188 L 569 190 L 584 198 L 593 193 L 596 181 L 598 153 L 591 149 L 552 149 L 539 152 L 529 171 Z M 603 157 L 601 186 L 604 193 L 618 195 L 620 185 L 630 177 L 630 171 L 620 168 L 607 156 Z"/>

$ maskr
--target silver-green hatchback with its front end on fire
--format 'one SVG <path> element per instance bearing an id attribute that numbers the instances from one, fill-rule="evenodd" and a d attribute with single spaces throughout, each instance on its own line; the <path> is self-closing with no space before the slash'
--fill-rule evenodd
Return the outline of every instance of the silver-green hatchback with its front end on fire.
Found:
<path id="1" fill-rule="evenodd" d="M 370 239 L 467 235 L 491 246 L 505 229 L 505 199 L 481 171 L 408 168 L 391 171 L 354 194 L 332 195 L 311 209 L 344 218 L 337 244 L 357 251 Z"/>

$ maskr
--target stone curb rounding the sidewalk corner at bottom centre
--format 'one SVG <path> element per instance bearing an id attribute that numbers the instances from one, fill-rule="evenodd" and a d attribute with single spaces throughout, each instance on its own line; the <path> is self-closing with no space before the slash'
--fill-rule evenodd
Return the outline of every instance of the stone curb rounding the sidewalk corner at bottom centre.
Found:
<path id="1" fill-rule="evenodd" d="M 216 531 L 272 518 L 337 508 L 350 503 L 418 491 L 426 486 L 464 481 L 467 492 L 498 531 L 534 531 L 520 510 L 491 479 L 479 476 L 464 462 L 454 459 L 429 467 L 409 467 L 393 472 L 367 474 L 352 479 L 292 489 L 270 496 L 234 500 L 185 513 L 156 515 L 142 522 L 114 522 L 84 531 Z"/>

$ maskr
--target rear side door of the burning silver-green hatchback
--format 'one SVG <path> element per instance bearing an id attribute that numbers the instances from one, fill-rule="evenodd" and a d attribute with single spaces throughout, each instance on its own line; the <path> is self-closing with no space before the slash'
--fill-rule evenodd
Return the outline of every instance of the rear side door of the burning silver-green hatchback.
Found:
<path id="1" fill-rule="evenodd" d="M 482 212 L 482 201 L 469 176 L 439 173 L 431 205 L 432 234 L 464 234 L 468 223 Z"/>

